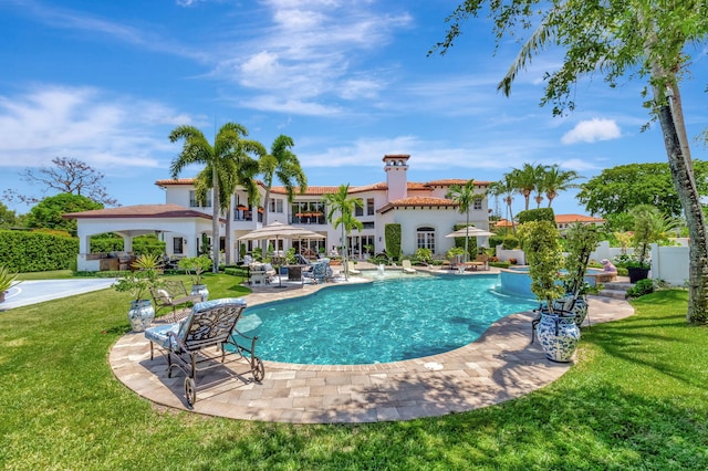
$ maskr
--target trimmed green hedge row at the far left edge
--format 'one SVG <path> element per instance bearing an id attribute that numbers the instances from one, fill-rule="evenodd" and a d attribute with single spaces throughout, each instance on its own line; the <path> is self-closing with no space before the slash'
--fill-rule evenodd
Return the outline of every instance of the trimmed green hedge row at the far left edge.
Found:
<path id="1" fill-rule="evenodd" d="M 69 270 L 79 239 L 45 232 L 0 230 L 0 264 L 12 272 Z"/>

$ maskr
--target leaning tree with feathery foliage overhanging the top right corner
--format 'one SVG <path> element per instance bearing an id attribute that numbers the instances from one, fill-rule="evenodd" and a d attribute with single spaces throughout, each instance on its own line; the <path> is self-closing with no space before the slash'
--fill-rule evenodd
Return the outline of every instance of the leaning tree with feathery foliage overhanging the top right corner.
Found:
<path id="1" fill-rule="evenodd" d="M 610 86 L 627 76 L 646 80 L 645 103 L 658 121 L 671 179 L 690 234 L 689 302 L 687 320 L 708 322 L 708 229 L 696 189 L 689 139 L 686 134 L 679 81 L 689 75 L 689 45 L 708 36 L 708 3 L 697 0 L 467 0 L 452 12 L 445 53 L 461 33 L 461 23 L 488 12 L 498 43 L 509 35 L 533 30 L 498 90 L 511 93 L 519 72 L 532 56 L 550 46 L 565 56 L 560 67 L 545 75 L 541 104 L 553 104 L 562 115 L 575 106 L 577 82 L 601 73 Z M 649 93 L 650 92 L 650 93 Z"/>

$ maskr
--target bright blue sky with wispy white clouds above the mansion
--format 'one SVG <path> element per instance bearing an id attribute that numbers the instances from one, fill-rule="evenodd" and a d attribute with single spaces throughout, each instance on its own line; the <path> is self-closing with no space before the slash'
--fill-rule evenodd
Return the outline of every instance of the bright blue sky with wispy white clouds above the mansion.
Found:
<path id="1" fill-rule="evenodd" d="M 539 100 L 558 54 L 537 56 L 509 98 L 496 85 L 519 44 L 493 54 L 486 20 L 468 23 L 445 56 L 427 56 L 460 1 L 2 0 L 0 193 L 41 196 L 18 174 L 73 157 L 105 174 L 121 205 L 164 202 L 154 182 L 180 150 L 169 132 L 190 124 L 212 136 L 226 122 L 267 147 L 291 136 L 312 186 L 383 181 L 385 154 L 412 156 L 409 181 L 494 181 L 524 163 L 590 178 L 666 161 L 658 126 L 641 132 L 642 82 L 584 81 L 576 109 L 554 118 Z M 708 124 L 708 61 L 689 53 L 694 137 Z M 693 151 L 708 158 L 701 144 Z M 514 211 L 522 205 L 517 197 Z M 584 212 L 574 192 L 553 208 Z"/>

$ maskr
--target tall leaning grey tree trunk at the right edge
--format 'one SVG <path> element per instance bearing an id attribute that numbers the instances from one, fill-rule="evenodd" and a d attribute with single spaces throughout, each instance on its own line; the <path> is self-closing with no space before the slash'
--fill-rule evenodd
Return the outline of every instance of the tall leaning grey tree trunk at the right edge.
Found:
<path id="1" fill-rule="evenodd" d="M 657 102 L 662 100 L 660 92 L 654 88 L 654 97 Z M 662 104 L 657 114 L 664 134 L 668 166 L 684 208 L 690 237 L 686 320 L 691 323 L 706 323 L 708 322 L 708 242 L 700 195 L 696 189 L 690 156 L 681 149 L 685 146 L 681 146 L 681 130 L 677 128 L 677 124 L 684 123 L 680 106 L 671 111 L 666 100 L 659 103 Z M 677 119 L 674 118 L 675 114 L 679 115 Z"/>

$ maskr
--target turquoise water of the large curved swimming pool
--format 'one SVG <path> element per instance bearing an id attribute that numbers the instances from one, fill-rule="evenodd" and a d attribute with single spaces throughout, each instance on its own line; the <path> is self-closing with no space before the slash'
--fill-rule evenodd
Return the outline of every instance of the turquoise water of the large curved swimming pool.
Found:
<path id="1" fill-rule="evenodd" d="M 362 365 L 434 355 L 467 345 L 499 318 L 535 307 L 500 295 L 497 275 L 428 276 L 337 285 L 292 301 L 248 307 L 238 328 L 258 335 L 267 360 Z"/>

